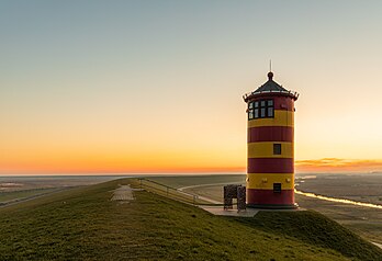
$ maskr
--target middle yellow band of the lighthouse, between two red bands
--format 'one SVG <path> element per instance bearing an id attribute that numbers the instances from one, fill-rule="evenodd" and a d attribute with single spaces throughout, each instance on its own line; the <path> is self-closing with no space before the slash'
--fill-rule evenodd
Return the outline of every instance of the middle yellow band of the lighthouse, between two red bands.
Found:
<path id="1" fill-rule="evenodd" d="M 273 144 L 281 144 L 281 155 L 273 154 Z M 248 158 L 293 158 L 293 143 L 265 141 L 248 144 Z"/>

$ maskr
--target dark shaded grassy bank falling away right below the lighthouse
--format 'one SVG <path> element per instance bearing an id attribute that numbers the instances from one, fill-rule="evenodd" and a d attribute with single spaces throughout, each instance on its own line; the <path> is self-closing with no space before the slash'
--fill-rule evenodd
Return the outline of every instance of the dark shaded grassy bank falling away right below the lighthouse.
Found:
<path id="1" fill-rule="evenodd" d="M 370 248 L 369 242 L 316 212 L 260 212 L 255 218 L 237 220 L 262 231 L 282 235 L 285 238 L 299 238 L 314 246 L 330 248 L 359 260 L 374 260 L 378 257 L 374 256 L 375 248 Z"/>

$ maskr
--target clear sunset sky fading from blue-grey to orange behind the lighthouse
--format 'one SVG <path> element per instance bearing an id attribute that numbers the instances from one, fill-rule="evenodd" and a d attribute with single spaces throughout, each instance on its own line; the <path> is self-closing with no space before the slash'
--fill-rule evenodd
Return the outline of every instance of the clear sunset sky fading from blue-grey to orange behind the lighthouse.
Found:
<path id="1" fill-rule="evenodd" d="M 300 93 L 296 172 L 382 171 L 382 2 L 0 1 L 0 174 L 245 172 L 241 95 Z"/>

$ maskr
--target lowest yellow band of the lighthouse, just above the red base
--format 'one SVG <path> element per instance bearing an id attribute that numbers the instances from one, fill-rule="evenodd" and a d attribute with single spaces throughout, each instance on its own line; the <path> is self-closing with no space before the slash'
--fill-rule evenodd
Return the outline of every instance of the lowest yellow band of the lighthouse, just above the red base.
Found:
<path id="1" fill-rule="evenodd" d="M 273 190 L 273 183 L 281 183 L 282 190 L 294 190 L 293 173 L 248 173 L 247 189 Z"/>

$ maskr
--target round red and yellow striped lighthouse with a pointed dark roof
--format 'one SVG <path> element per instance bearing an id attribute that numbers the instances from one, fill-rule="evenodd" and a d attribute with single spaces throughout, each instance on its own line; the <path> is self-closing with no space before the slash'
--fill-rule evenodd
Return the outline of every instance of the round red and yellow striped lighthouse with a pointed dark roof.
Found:
<path id="1" fill-rule="evenodd" d="M 244 95 L 248 105 L 247 206 L 294 208 L 294 101 L 299 94 L 268 81 Z"/>

